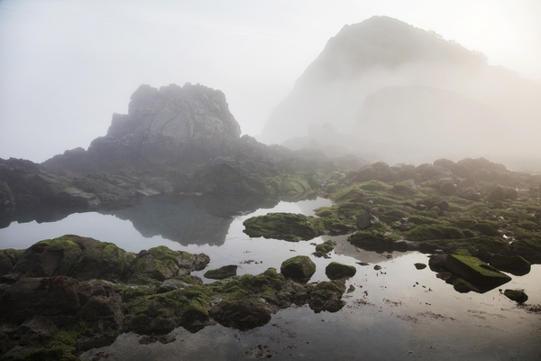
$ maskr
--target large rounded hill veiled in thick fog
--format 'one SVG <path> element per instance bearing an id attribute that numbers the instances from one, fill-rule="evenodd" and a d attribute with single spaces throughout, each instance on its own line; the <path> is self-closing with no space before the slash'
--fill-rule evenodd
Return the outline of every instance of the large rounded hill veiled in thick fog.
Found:
<path id="1" fill-rule="evenodd" d="M 538 153 L 535 136 L 523 129 L 539 132 L 540 98 L 539 84 L 487 65 L 479 52 L 374 16 L 345 25 L 327 42 L 273 110 L 261 139 L 282 143 L 300 137 L 295 143 L 320 148 L 341 144 L 375 153 L 378 160 L 410 151 L 429 151 L 432 159 Z M 452 147 L 434 147 L 434 139 Z M 513 139 L 520 144 L 505 146 Z M 475 153 L 449 152 L 464 143 L 466 151 L 476 143 Z M 421 162 L 418 156 L 386 160 Z"/>

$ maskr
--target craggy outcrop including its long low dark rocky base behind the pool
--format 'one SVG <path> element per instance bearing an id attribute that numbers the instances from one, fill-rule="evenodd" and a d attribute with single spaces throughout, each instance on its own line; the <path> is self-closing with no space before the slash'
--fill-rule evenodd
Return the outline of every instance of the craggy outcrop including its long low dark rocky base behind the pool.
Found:
<path id="1" fill-rule="evenodd" d="M 219 90 L 142 85 L 131 99 L 128 114 L 115 114 L 107 134 L 87 151 L 66 151 L 41 164 L 0 160 L 0 227 L 122 208 L 156 195 L 302 198 L 321 186 L 322 173 L 363 165 L 355 157 L 333 160 L 241 137 Z"/>

